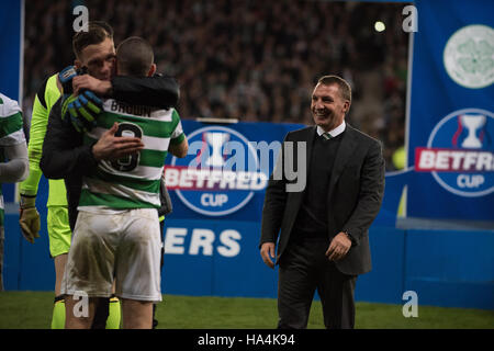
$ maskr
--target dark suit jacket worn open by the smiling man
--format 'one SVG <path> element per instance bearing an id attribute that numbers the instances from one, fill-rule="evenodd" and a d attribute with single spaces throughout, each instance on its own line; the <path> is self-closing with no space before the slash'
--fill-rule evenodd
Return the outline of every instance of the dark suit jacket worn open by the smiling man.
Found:
<path id="1" fill-rule="evenodd" d="M 312 144 L 316 135 L 315 126 L 291 132 L 287 141 L 293 141 L 293 162 L 295 169 L 310 169 Z M 306 141 L 306 157 L 297 160 L 296 143 Z M 288 154 L 282 150 L 277 168 Z M 278 177 L 279 178 L 279 177 Z M 289 177 L 290 179 L 291 177 Z M 287 184 L 296 180 L 282 177 L 277 180 L 273 174 L 266 190 L 262 208 L 260 245 L 277 242 L 277 263 L 283 254 L 293 229 L 304 191 L 287 192 Z M 352 128 L 347 124 L 336 156 L 327 192 L 328 237 L 333 239 L 338 233 L 348 230 L 355 244 L 340 261 L 338 270 L 345 274 L 362 274 L 371 270 L 369 248 L 369 227 L 379 213 L 384 194 L 384 160 L 380 141 Z M 278 238 L 279 235 L 279 238 Z"/>

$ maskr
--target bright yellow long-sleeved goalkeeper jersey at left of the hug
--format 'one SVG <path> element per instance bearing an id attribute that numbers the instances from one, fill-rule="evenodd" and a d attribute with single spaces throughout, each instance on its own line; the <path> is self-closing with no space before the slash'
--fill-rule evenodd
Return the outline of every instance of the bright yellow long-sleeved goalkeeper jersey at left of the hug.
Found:
<path id="1" fill-rule="evenodd" d="M 48 124 L 49 111 L 60 97 L 57 87 L 57 76 L 53 75 L 44 81 L 42 88 L 34 98 L 33 115 L 31 117 L 30 144 L 27 152 L 30 158 L 30 174 L 26 180 L 21 182 L 20 192 L 23 195 L 34 196 L 37 193 L 37 186 L 42 177 L 40 160 L 43 151 L 43 140 L 45 139 L 46 125 Z M 48 180 L 48 202 L 46 206 L 67 206 L 67 192 L 61 179 Z"/>

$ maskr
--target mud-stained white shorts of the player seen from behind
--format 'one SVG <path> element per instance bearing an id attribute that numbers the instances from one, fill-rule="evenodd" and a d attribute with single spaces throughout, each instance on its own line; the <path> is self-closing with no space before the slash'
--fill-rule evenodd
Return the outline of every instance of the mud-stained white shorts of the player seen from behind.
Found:
<path id="1" fill-rule="evenodd" d="M 160 302 L 161 238 L 156 208 L 117 214 L 80 211 L 61 293 Z"/>

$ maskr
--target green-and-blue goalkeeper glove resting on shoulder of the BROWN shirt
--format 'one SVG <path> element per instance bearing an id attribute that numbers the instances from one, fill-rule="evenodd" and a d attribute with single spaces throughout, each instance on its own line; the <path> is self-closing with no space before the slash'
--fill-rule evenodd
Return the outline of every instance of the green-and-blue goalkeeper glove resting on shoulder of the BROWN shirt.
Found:
<path id="1" fill-rule="evenodd" d="M 81 133 L 96 127 L 96 117 L 102 112 L 103 102 L 92 91 L 70 95 L 61 103 L 61 120 L 69 118 L 74 128 Z"/>

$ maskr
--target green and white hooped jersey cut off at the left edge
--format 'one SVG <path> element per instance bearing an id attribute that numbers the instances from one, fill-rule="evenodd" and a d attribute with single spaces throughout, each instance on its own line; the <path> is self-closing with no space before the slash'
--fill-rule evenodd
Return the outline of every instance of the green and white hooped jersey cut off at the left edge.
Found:
<path id="1" fill-rule="evenodd" d="M 0 93 L 0 162 L 5 161 L 3 147 L 25 143 L 22 112 L 15 100 Z M 3 196 L 0 186 L 0 225 L 3 225 Z"/>

